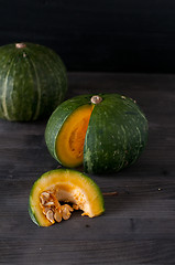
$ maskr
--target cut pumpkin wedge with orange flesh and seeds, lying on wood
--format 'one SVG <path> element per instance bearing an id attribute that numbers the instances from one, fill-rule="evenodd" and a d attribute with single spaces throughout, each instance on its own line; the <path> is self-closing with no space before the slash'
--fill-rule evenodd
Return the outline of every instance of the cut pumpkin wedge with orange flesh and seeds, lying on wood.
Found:
<path id="1" fill-rule="evenodd" d="M 75 170 L 56 169 L 35 181 L 29 205 L 34 223 L 50 226 L 68 220 L 74 210 L 81 210 L 89 218 L 105 211 L 101 191 L 89 177 Z"/>

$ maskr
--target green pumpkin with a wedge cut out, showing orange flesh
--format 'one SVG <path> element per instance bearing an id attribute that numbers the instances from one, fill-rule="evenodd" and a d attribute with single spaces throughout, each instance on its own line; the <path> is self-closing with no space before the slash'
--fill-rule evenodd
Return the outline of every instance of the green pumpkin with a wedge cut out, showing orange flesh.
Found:
<path id="1" fill-rule="evenodd" d="M 83 95 L 62 103 L 48 119 L 45 140 L 63 166 L 88 173 L 117 172 L 134 163 L 147 139 L 138 104 L 119 94 Z"/>

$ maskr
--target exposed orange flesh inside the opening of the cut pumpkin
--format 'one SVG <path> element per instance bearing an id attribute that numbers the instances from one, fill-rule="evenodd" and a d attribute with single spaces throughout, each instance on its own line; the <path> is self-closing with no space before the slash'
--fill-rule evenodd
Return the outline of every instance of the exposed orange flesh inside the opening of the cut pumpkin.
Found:
<path id="1" fill-rule="evenodd" d="M 78 107 L 65 120 L 56 139 L 56 153 L 65 167 L 78 167 L 84 159 L 84 142 L 95 105 Z"/>

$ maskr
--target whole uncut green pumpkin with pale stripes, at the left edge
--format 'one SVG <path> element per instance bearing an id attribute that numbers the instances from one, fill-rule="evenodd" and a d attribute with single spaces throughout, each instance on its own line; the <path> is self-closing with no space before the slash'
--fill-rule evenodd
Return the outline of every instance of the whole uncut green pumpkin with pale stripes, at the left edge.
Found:
<path id="1" fill-rule="evenodd" d="M 66 92 L 66 68 L 54 51 L 28 42 L 0 47 L 0 118 L 28 121 L 48 116 Z"/>

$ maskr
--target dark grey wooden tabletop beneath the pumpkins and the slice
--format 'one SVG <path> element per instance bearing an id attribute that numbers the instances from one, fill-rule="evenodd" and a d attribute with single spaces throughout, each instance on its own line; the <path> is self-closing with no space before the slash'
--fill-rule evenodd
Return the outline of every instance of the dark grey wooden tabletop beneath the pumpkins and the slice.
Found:
<path id="1" fill-rule="evenodd" d="M 44 142 L 46 120 L 0 120 L 0 264 L 175 264 L 175 75 L 69 73 L 72 97 L 121 93 L 145 113 L 149 142 L 138 162 L 91 176 L 106 197 L 95 219 L 37 227 L 28 213 L 33 182 L 58 165 Z"/>

